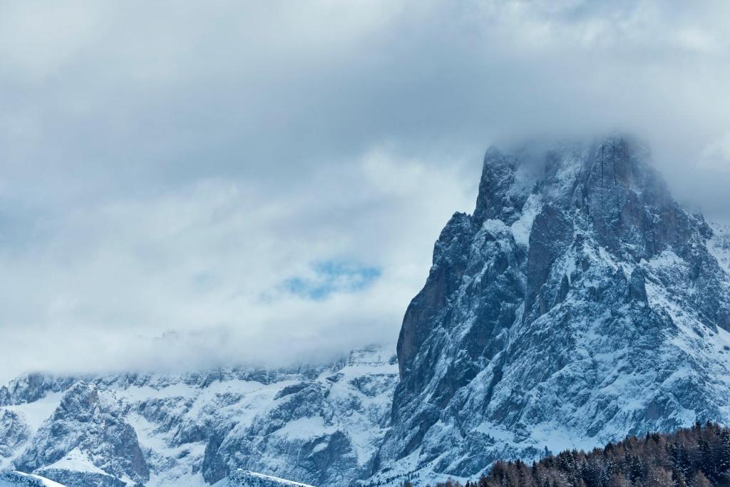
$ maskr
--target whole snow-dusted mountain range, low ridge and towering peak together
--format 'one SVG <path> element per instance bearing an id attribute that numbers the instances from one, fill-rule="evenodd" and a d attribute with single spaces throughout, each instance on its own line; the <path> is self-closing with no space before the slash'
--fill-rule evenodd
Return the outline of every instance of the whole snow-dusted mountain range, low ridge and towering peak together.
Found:
<path id="1" fill-rule="evenodd" d="M 648 161 L 618 136 L 488 150 L 397 347 L 296 369 L 26 375 L 0 388 L 0 468 L 74 487 L 420 484 L 729 424 L 730 227 L 685 210 Z"/>

